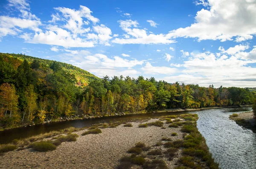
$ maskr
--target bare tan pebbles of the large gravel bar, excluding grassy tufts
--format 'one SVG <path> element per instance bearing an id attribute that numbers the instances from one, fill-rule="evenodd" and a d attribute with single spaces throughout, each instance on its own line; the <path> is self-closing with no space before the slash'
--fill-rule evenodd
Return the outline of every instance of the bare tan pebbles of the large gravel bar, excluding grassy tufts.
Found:
<path id="1" fill-rule="evenodd" d="M 157 120 L 151 119 L 147 123 Z M 128 155 L 127 150 L 137 142 L 154 146 L 162 137 L 171 137 L 172 141 L 183 139 L 181 127 L 170 128 L 169 124 L 164 124 L 166 129 L 156 126 L 138 127 L 142 123 L 145 122 L 132 122 L 133 127 L 124 127 L 124 124 L 121 124 L 116 128 L 103 128 L 102 133 L 96 135 L 81 136 L 86 130 L 73 132 L 79 135 L 77 141 L 63 142 L 54 151 L 36 152 L 30 148 L 6 152 L 0 157 L 0 168 L 113 169 L 119 165 L 119 159 Z M 171 136 L 172 132 L 176 132 L 177 136 Z M 175 168 L 178 165 L 181 152 L 182 149 L 177 151 L 177 155 L 171 161 L 164 159 L 168 168 Z"/>

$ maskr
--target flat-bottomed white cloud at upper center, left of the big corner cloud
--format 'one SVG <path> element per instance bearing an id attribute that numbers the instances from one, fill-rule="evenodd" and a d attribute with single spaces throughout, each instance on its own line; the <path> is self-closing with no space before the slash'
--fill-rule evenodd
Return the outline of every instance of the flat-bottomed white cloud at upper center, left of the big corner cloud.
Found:
<path id="1" fill-rule="evenodd" d="M 169 44 L 176 41 L 168 39 L 164 34 L 147 34 L 146 30 L 139 29 L 139 23 L 135 20 L 119 20 L 120 28 L 126 32 L 126 39 L 115 38 L 114 43 L 119 44 Z M 133 28 L 132 28 L 133 27 Z"/>

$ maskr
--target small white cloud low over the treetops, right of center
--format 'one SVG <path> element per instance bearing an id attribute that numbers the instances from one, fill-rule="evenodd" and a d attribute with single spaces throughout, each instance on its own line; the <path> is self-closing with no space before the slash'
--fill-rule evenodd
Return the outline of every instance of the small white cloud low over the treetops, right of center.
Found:
<path id="1" fill-rule="evenodd" d="M 165 66 L 152 66 L 149 62 L 146 62 L 146 65 L 141 68 L 145 74 L 173 74 L 177 70 L 176 68 L 168 68 Z"/>

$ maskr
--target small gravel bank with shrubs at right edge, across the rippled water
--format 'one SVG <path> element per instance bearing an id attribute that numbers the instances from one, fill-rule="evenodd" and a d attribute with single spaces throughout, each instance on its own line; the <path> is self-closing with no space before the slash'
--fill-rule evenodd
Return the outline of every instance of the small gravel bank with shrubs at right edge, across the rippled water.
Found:
<path id="1" fill-rule="evenodd" d="M 238 125 L 250 129 L 256 133 L 256 117 L 253 115 L 253 112 L 233 114 L 230 115 L 230 119 L 236 121 Z"/>

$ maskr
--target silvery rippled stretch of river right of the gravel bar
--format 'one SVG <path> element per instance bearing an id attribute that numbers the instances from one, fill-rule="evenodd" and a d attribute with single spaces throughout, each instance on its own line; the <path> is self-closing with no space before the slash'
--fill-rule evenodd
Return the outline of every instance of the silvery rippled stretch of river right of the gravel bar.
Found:
<path id="1" fill-rule="evenodd" d="M 233 112 L 244 111 L 251 111 L 251 107 L 195 112 L 198 130 L 221 169 L 256 169 L 256 134 L 229 119 Z"/>

